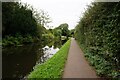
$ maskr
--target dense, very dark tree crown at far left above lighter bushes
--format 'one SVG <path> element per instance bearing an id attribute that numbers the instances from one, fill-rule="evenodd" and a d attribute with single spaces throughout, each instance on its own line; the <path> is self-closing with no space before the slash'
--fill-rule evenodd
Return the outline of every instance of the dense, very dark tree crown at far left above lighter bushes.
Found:
<path id="1" fill-rule="evenodd" d="M 16 33 L 37 34 L 37 22 L 33 17 L 32 10 L 28 7 L 27 4 L 23 6 L 18 2 L 2 3 L 3 37 Z"/>

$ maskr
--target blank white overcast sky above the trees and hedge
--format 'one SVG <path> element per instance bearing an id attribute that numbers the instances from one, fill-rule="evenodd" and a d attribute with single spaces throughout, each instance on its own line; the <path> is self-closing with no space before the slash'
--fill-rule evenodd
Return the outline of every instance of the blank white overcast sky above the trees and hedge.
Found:
<path id="1" fill-rule="evenodd" d="M 52 22 L 49 26 L 58 27 L 60 24 L 68 23 L 69 29 L 74 29 L 87 5 L 93 0 L 21 0 L 30 4 L 33 8 L 48 12 Z"/>

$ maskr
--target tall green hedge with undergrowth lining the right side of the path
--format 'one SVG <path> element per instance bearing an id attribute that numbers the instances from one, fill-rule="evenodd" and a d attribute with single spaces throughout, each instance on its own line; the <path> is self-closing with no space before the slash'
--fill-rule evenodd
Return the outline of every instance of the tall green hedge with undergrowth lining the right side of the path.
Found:
<path id="1" fill-rule="evenodd" d="M 75 29 L 86 57 L 101 76 L 120 74 L 120 3 L 94 2 Z"/>

